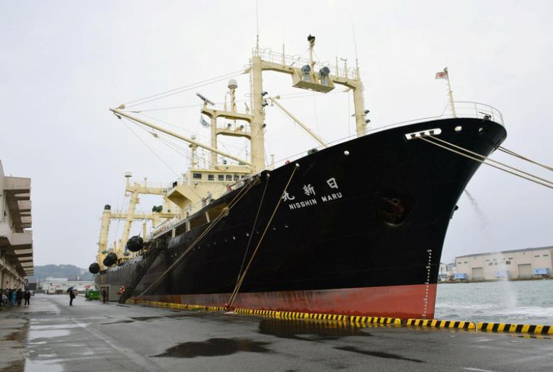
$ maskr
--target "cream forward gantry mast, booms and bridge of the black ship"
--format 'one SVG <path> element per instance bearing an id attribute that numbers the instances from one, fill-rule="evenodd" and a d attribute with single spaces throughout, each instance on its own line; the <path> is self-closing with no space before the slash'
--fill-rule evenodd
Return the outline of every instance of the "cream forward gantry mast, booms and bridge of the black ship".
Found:
<path id="1" fill-rule="evenodd" d="M 309 35 L 307 41 L 309 43 L 308 60 L 284 54 L 284 47 L 282 53 L 260 50 L 258 46 L 254 48 L 250 59 L 250 66 L 244 71 L 245 74 L 250 74 L 251 79 L 250 96 L 253 106 L 251 107 L 251 111 L 250 107 L 247 106 L 246 112 L 238 112 L 236 110 L 235 89 L 238 88 L 238 84 L 234 79 L 230 79 L 228 82 L 229 91 L 226 93 L 227 95 L 230 93 L 231 96 L 230 110 L 228 110 L 226 105 L 226 95 L 223 110 L 220 110 L 215 107 L 215 104 L 211 100 L 196 93 L 203 100 L 201 114 L 206 115 L 211 120 L 211 146 L 196 141 L 194 136 L 188 138 L 130 115 L 129 112 L 125 111 L 125 105 L 110 109 L 119 119 L 125 117 L 169 136 L 174 136 L 189 144 L 192 153 L 189 176 L 184 182 L 175 183 L 173 188 L 168 190 L 166 194 L 167 199 L 177 204 L 183 214 L 190 215 L 194 213 L 206 204 L 206 200 L 212 200 L 213 197 L 217 198 L 220 194 L 227 192 L 229 187 L 240 185 L 239 181 L 242 178 L 259 173 L 267 168 L 265 164 L 264 127 L 265 107 L 269 105 L 269 102 L 276 104 L 287 115 L 290 115 L 295 122 L 300 124 L 323 147 L 328 146 L 323 139 L 306 127 L 305 124 L 301 123 L 297 117 L 291 115 L 291 112 L 282 107 L 280 103 L 277 103 L 275 99 L 278 98 L 278 95 L 271 98 L 267 91 L 264 91 L 263 71 L 288 74 L 292 77 L 292 86 L 295 88 L 319 93 L 333 91 L 336 85 L 345 86 L 353 92 L 357 136 L 363 136 L 367 133 L 367 123 L 369 120 L 366 120 L 365 116 L 369 111 L 364 110 L 363 107 L 363 85 L 361 79 L 359 79 L 359 66 L 356 65 L 355 69 L 347 69 L 346 65 L 344 69 L 335 66 L 333 68 L 333 71 L 336 71 L 335 74 L 330 74 L 331 69 L 328 64 L 316 62 L 313 59 L 315 55 L 315 36 Z M 230 120 L 234 124 L 228 122 L 225 125 L 221 123 L 223 120 Z M 237 122 L 243 124 L 237 124 Z M 218 149 L 218 136 L 238 136 L 248 139 L 250 141 L 250 158 L 245 160 Z M 201 169 L 198 166 L 196 149 L 199 147 L 211 152 L 208 169 Z M 225 160 L 219 163 L 218 156 L 238 161 L 238 165 L 227 164 Z M 201 202 L 201 205 L 199 202 Z M 125 237 L 128 238 L 126 231 L 128 231 L 128 228 L 125 228 Z M 125 242 L 122 241 L 121 245 L 124 247 L 123 243 Z"/>

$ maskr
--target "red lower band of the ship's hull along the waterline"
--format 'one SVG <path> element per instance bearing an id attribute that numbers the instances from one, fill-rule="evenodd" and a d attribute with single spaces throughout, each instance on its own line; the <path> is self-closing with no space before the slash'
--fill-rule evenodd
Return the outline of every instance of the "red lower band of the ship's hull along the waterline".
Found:
<path id="1" fill-rule="evenodd" d="M 225 306 L 230 293 L 144 296 L 147 301 Z M 233 307 L 256 310 L 362 315 L 390 318 L 434 318 L 436 284 L 377 286 L 317 291 L 239 293 Z"/>

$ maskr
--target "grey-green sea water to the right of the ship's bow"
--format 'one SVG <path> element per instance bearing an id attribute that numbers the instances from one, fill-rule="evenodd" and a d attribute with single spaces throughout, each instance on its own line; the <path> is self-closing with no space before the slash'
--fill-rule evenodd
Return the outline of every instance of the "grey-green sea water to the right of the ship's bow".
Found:
<path id="1" fill-rule="evenodd" d="M 553 279 L 438 284 L 434 316 L 553 325 Z"/>

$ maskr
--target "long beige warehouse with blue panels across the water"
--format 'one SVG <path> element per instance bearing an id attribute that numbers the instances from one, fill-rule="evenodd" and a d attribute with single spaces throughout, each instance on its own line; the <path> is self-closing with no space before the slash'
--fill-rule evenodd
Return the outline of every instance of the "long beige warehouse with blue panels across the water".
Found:
<path id="1" fill-rule="evenodd" d="M 456 279 L 468 281 L 551 277 L 553 247 L 478 253 L 455 258 Z"/>

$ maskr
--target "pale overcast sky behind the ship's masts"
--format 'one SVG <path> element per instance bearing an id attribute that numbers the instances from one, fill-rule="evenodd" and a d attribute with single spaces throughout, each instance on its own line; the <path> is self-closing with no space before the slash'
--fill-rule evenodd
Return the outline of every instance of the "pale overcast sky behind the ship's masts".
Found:
<path id="1" fill-rule="evenodd" d="M 553 165 L 551 1 L 259 1 L 259 44 L 287 54 L 315 52 L 352 66 L 357 40 L 365 105 L 374 127 L 439 115 L 447 66 L 455 100 L 503 113 L 503 146 Z M 125 207 L 125 170 L 168 184 L 188 159 L 116 120 L 108 107 L 243 69 L 255 46 L 255 1 L 0 0 L 0 160 L 6 175 L 30 177 L 35 265 L 94 262 L 104 204 Z M 248 78 L 238 76 L 238 100 Z M 294 91 L 267 74 L 272 95 Z M 140 106 L 218 103 L 226 83 Z M 351 95 L 282 100 L 327 141 L 354 132 Z M 243 103 L 239 103 L 242 107 Z M 149 113 L 203 139 L 199 107 Z M 315 145 L 277 107 L 267 110 L 267 154 L 286 158 Z M 226 150 L 243 154 L 243 144 Z M 542 177 L 552 173 L 494 153 Z M 442 254 L 553 245 L 553 190 L 482 165 L 463 195 Z M 157 200 L 143 197 L 141 210 Z M 159 203 L 158 203 L 159 204 Z M 137 223 L 138 226 L 138 223 Z M 123 223 L 112 224 L 112 240 Z"/>

